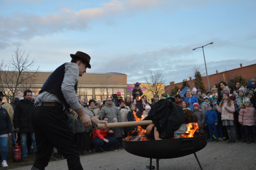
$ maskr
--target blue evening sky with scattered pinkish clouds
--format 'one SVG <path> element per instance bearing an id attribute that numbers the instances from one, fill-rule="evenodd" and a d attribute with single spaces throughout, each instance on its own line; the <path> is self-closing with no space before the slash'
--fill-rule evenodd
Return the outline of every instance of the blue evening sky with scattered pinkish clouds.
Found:
<path id="1" fill-rule="evenodd" d="M 160 70 L 167 84 L 256 63 L 253 0 L 0 0 L 0 57 L 16 46 L 53 71 L 70 54 L 91 57 L 88 73 L 127 74 L 145 82 Z"/>

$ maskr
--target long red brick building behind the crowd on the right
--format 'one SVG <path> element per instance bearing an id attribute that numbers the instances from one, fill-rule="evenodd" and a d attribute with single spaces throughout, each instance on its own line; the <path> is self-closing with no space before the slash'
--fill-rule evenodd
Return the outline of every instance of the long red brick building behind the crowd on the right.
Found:
<path id="1" fill-rule="evenodd" d="M 256 64 L 252 64 L 249 66 L 244 66 L 242 64 L 240 64 L 240 68 L 236 68 L 236 69 L 232 69 L 232 70 L 227 70 L 227 71 L 223 71 L 223 72 L 218 72 L 218 70 L 216 70 L 215 74 L 211 74 L 208 75 L 209 78 L 209 84 L 210 84 L 210 88 L 212 88 L 214 86 L 214 84 L 219 83 L 220 81 L 225 81 L 226 83 L 228 83 L 228 81 L 232 78 L 234 78 L 236 75 L 241 75 L 243 78 L 245 78 L 246 80 L 252 79 L 256 77 Z M 193 82 L 194 79 L 192 79 L 192 77 L 189 78 L 188 84 L 190 85 L 190 88 L 195 87 Z M 205 89 L 208 90 L 208 82 L 207 82 L 207 76 L 202 77 L 202 81 L 204 84 Z M 246 84 L 244 84 L 246 86 Z M 167 93 L 171 93 L 171 89 L 173 89 L 175 86 L 178 86 L 179 88 L 181 88 L 182 86 L 182 82 L 180 83 L 176 83 L 175 82 L 170 82 L 170 85 L 165 86 L 165 92 Z"/>

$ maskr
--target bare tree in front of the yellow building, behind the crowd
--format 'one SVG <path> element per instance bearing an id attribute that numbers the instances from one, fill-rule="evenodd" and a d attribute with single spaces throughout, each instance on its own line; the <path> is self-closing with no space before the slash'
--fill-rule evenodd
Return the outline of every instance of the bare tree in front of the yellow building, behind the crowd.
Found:
<path id="1" fill-rule="evenodd" d="M 166 78 L 163 77 L 160 70 L 155 72 L 149 70 L 150 76 L 146 78 L 144 76 L 145 81 L 148 84 L 151 84 L 149 88 L 147 88 L 147 92 L 151 92 L 153 95 L 155 94 L 162 94 L 165 92 L 165 85 L 166 85 Z"/>

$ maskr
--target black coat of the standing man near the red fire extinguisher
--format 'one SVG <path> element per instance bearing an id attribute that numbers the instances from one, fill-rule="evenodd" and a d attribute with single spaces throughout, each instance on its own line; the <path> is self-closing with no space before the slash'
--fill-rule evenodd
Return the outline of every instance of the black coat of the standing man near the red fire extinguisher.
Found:
<path id="1" fill-rule="evenodd" d="M 14 110 L 14 128 L 19 128 L 19 132 L 33 132 L 31 123 L 32 110 L 34 109 L 34 99 L 27 101 L 25 98 L 20 100 Z"/>

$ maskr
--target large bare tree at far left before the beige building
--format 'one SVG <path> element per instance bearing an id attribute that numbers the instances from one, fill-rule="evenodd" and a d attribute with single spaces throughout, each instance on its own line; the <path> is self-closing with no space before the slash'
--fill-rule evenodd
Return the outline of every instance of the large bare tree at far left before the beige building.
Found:
<path id="1" fill-rule="evenodd" d="M 19 89 L 29 88 L 32 86 L 37 78 L 38 69 L 33 70 L 35 60 L 29 60 L 29 53 L 26 54 L 25 50 L 22 52 L 16 46 L 14 55 L 8 64 L 4 63 L 4 58 L 0 61 L 0 89 L 6 97 L 6 100 L 11 103 L 17 95 Z"/>

